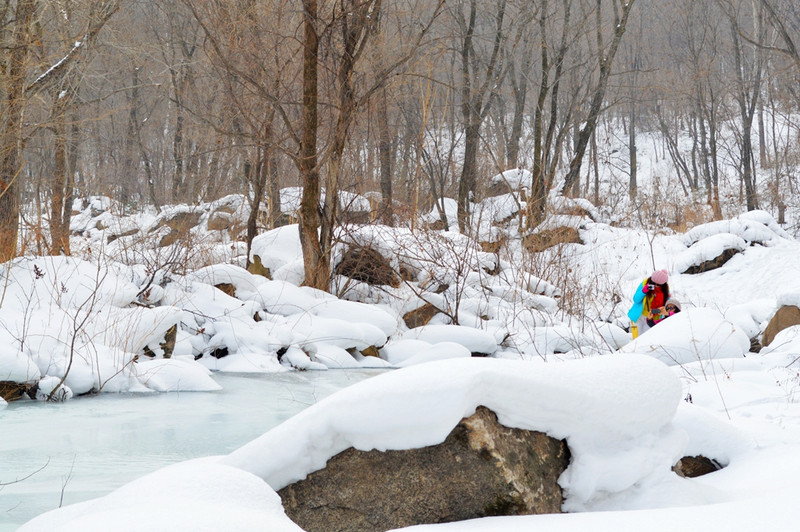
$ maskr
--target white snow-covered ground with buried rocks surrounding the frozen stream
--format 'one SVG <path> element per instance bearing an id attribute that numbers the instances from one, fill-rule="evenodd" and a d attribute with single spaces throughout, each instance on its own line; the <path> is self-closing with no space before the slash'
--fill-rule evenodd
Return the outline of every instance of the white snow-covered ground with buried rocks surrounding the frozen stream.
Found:
<path id="1" fill-rule="evenodd" d="M 509 212 L 508 201 L 485 207 L 495 221 Z M 42 398 L 202 392 L 218 389 L 220 371 L 387 368 L 230 454 L 156 471 L 22 530 L 296 530 L 274 490 L 350 446 L 441 442 L 478 405 L 567 439 L 560 483 L 572 513 L 437 527 L 793 529 L 800 329 L 749 348 L 780 305 L 800 303 L 800 243 L 761 211 L 683 234 L 599 219 L 561 218 L 583 244 L 542 252 L 536 264 L 550 269 L 538 270 L 523 267 L 511 229 L 497 257 L 457 233 L 362 227 L 347 242 L 370 243 L 411 277 L 399 288 L 336 278 L 341 297 L 298 286 L 294 226 L 254 242 L 272 280 L 236 264 L 181 275 L 108 258 L 3 265 L 0 381 L 38 382 Z M 685 273 L 725 249 L 737 253 L 721 268 Z M 661 268 L 683 312 L 631 341 L 630 297 Z M 223 283 L 233 296 L 215 288 Z M 409 329 L 403 314 L 424 303 L 441 312 Z M 362 354 L 371 347 L 379 357 Z M 697 454 L 726 467 L 696 479 L 670 470 Z"/>

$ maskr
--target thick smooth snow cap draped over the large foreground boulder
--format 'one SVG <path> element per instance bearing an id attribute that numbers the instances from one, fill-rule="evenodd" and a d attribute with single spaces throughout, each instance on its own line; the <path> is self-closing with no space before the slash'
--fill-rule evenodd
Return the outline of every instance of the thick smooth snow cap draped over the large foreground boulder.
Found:
<path id="1" fill-rule="evenodd" d="M 363 381 L 234 451 L 222 463 L 274 489 L 321 469 L 335 454 L 434 445 L 484 405 L 506 426 L 566 438 L 561 479 L 571 510 L 672 474 L 685 436 L 670 422 L 680 383 L 662 363 L 610 355 L 542 365 L 495 359 L 431 362 Z M 625 471 L 620 474 L 620 471 Z"/>

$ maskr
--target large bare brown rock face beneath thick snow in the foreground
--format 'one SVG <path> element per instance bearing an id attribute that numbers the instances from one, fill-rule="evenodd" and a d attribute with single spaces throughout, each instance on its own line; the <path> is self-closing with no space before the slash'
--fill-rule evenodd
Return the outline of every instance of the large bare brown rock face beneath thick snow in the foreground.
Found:
<path id="1" fill-rule="evenodd" d="M 382 531 L 496 515 L 560 513 L 566 442 L 510 429 L 479 407 L 447 439 L 405 451 L 347 449 L 278 494 L 304 530 Z"/>

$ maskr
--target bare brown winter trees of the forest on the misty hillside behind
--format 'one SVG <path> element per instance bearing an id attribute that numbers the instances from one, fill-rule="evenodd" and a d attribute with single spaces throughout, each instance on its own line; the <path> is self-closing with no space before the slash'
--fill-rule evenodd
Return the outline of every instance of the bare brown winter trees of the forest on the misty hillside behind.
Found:
<path id="1" fill-rule="evenodd" d="M 553 193 L 648 229 L 783 223 L 798 40 L 793 0 L 6 0 L 0 262 L 69 254 L 76 198 L 244 194 L 249 243 L 300 186 L 305 282 L 328 289 L 333 191 L 388 225 L 455 198 L 469 234 L 471 202 L 515 167 L 529 229 Z M 637 175 L 642 139 L 664 175 Z"/>

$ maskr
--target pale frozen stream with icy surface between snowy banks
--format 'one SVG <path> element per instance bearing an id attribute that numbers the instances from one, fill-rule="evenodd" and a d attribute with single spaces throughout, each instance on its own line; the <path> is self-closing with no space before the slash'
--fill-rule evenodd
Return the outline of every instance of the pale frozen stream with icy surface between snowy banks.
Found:
<path id="1" fill-rule="evenodd" d="M 102 496 L 167 464 L 229 453 L 381 372 L 217 374 L 219 392 L 11 403 L 0 410 L 0 484 L 7 484 L 0 486 L 0 531 L 15 530 L 60 503 Z"/>

